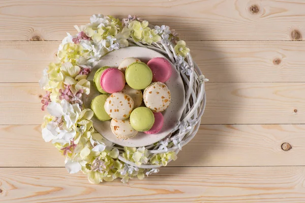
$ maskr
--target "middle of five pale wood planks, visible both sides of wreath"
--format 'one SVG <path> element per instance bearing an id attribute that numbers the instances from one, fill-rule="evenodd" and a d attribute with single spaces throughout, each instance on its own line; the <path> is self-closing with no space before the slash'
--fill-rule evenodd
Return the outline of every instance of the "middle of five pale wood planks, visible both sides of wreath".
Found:
<path id="1" fill-rule="evenodd" d="M 206 83 L 201 123 L 305 124 L 304 91 L 304 83 Z M 0 124 L 40 124 L 42 94 L 37 83 L 0 83 Z"/>

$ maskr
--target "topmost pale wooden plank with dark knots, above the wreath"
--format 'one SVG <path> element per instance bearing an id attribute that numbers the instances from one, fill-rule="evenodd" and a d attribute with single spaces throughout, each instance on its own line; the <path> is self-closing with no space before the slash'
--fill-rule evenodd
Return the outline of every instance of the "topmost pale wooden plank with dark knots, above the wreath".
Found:
<path id="1" fill-rule="evenodd" d="M 175 28 L 185 40 L 301 40 L 304 10 L 302 0 L 1 1 L 0 36 L 2 41 L 62 40 L 75 32 L 73 25 L 104 13 L 137 14 Z"/>

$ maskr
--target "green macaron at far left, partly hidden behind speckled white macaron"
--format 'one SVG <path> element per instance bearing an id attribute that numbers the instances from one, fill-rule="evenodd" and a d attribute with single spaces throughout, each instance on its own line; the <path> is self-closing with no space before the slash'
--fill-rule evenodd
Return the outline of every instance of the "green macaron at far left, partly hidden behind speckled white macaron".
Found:
<path id="1" fill-rule="evenodd" d="M 99 119 L 100 121 L 106 121 L 110 120 L 110 116 L 106 113 L 104 109 L 105 102 L 109 96 L 106 94 L 101 94 L 97 97 L 95 97 L 91 101 L 91 109 L 94 112 L 94 115 Z"/>

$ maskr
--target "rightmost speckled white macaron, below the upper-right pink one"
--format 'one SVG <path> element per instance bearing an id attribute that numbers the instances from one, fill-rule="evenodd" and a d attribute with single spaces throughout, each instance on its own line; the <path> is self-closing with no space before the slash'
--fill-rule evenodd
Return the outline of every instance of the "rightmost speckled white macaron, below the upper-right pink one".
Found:
<path id="1" fill-rule="evenodd" d="M 143 93 L 145 106 L 153 112 L 162 112 L 170 104 L 170 91 L 162 82 L 149 85 Z"/>

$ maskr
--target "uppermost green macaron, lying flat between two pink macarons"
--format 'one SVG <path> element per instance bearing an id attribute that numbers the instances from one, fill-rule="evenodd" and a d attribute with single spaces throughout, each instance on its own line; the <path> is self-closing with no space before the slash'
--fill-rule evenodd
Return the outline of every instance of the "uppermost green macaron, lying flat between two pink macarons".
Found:
<path id="1" fill-rule="evenodd" d="M 133 89 L 145 89 L 153 80 L 153 73 L 142 62 L 130 64 L 125 71 L 127 84 Z"/>

